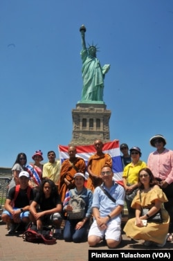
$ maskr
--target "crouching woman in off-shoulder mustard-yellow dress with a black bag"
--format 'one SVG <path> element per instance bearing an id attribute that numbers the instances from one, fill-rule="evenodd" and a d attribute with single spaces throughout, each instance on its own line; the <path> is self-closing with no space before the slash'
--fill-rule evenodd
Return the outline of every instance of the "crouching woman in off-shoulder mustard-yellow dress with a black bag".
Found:
<path id="1" fill-rule="evenodd" d="M 145 240 L 145 246 L 155 244 L 163 247 L 167 240 L 170 217 L 162 206 L 164 202 L 167 202 L 167 197 L 156 183 L 149 168 L 143 168 L 138 172 L 139 190 L 131 203 L 131 208 L 136 209 L 136 217 L 127 221 L 124 231 L 127 237 Z M 156 213 L 159 210 L 162 219 L 156 220 Z M 144 224 L 143 220 L 147 224 Z"/>

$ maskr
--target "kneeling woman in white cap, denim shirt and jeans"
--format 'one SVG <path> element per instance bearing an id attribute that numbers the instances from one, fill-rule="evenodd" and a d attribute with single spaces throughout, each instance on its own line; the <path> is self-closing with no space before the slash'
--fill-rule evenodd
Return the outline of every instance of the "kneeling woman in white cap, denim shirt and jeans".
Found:
<path id="1" fill-rule="evenodd" d="M 64 228 L 64 240 L 66 242 L 80 243 L 85 240 L 86 231 L 89 228 L 91 217 L 91 205 L 93 193 L 84 187 L 84 174 L 74 175 L 75 188 L 69 190 L 69 201 L 64 200 L 64 211 L 67 213 Z"/>

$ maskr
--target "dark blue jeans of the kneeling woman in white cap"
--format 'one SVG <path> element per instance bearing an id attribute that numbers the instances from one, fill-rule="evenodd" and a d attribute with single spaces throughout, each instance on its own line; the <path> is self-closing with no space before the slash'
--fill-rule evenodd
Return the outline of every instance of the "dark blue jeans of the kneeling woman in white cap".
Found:
<path id="1" fill-rule="evenodd" d="M 75 229 L 75 226 L 81 219 L 67 219 L 64 227 L 63 237 L 66 242 L 80 243 L 86 237 L 87 229 L 89 228 L 89 220 L 84 223 L 80 229 Z"/>

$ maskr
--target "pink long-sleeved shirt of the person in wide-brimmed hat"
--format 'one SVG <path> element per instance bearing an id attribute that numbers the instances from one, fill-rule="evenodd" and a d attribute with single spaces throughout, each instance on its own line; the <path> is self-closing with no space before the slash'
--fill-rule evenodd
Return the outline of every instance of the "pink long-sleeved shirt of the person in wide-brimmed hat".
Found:
<path id="1" fill-rule="evenodd" d="M 165 149 L 161 154 L 156 150 L 149 154 L 147 167 L 152 170 L 154 177 L 173 182 L 173 151 Z"/>

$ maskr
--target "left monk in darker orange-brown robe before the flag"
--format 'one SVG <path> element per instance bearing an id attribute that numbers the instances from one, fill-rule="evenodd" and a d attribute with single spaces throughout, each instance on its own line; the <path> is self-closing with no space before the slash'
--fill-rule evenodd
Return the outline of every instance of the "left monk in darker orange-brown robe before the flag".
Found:
<path id="1" fill-rule="evenodd" d="M 69 146 L 68 154 L 69 159 L 66 159 L 62 163 L 62 167 L 60 170 L 60 183 L 59 183 L 59 195 L 60 199 L 63 202 L 66 196 L 66 190 L 75 188 L 74 184 L 74 175 L 77 172 L 81 172 L 85 174 L 86 171 L 86 164 L 84 159 L 80 157 L 76 157 L 76 147 Z"/>

